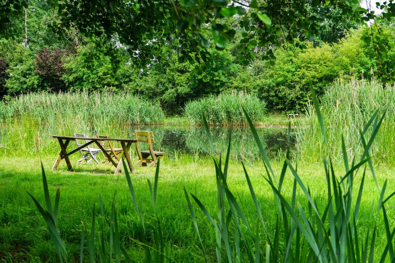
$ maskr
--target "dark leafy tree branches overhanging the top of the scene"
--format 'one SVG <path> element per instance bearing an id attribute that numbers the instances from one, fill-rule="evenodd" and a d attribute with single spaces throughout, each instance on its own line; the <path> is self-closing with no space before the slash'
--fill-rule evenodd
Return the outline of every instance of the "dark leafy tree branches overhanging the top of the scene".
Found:
<path id="1" fill-rule="evenodd" d="M 307 39 L 314 40 L 320 33 L 324 18 L 319 12 L 329 7 L 339 10 L 331 16 L 334 24 L 347 18 L 352 23 L 364 23 L 378 16 L 372 10 L 362 8 L 359 0 L 48 0 L 57 9 L 58 21 L 51 28 L 63 39 L 72 28 L 96 44 L 96 51 L 111 57 L 119 68 L 119 45 L 126 47 L 130 62 L 137 68 L 147 68 L 152 61 L 168 58 L 164 47 L 169 41 L 177 40 L 179 62 L 198 62 L 202 73 L 213 63 L 209 47 L 226 49 L 233 40 L 236 29 L 241 38 L 236 47 L 238 62 L 249 65 L 257 54 L 267 65 L 274 65 L 273 47 L 286 43 L 305 49 Z M 22 1 L 23 2 L 23 1 Z M 21 9 L 17 0 L 11 0 L 13 9 Z M 378 2 L 377 8 L 386 9 L 381 19 L 395 15 L 395 4 Z M 8 10 L 11 12 L 11 9 Z M 238 17 L 237 25 L 227 19 Z M 5 26 L 9 28 L 9 24 Z M 12 34 L 1 31 L 0 34 Z M 281 37 L 279 37 L 281 36 Z M 295 41 L 297 39 L 297 41 Z M 395 78 L 387 51 L 387 39 L 374 31 L 364 40 L 374 44 L 378 57 L 378 74 L 384 81 Z M 200 72 L 198 70 L 198 72 Z"/>

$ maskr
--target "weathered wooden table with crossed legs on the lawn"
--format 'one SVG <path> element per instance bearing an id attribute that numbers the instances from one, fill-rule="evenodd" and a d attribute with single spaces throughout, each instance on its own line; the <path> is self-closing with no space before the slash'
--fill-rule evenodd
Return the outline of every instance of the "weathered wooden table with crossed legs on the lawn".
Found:
<path id="1" fill-rule="evenodd" d="M 116 167 L 115 173 L 114 173 L 115 175 L 120 172 L 120 170 L 122 168 L 122 160 L 123 159 L 126 159 L 126 162 L 128 163 L 130 171 L 132 173 L 134 173 L 134 168 L 133 168 L 133 165 L 132 165 L 132 160 L 130 158 L 129 149 L 130 149 L 130 146 L 132 145 L 132 143 L 135 143 L 135 142 L 139 141 L 139 139 L 75 137 L 75 136 L 62 136 L 62 135 L 50 135 L 50 134 L 47 134 L 47 136 L 51 136 L 54 139 L 58 139 L 59 146 L 60 146 L 59 156 L 56 159 L 55 164 L 52 167 L 52 171 L 56 170 L 56 168 L 58 167 L 58 165 L 59 165 L 59 163 L 60 163 L 60 161 L 62 159 L 64 159 L 66 161 L 67 167 L 68 167 L 68 169 L 70 171 L 72 169 L 72 167 L 71 167 L 71 163 L 70 163 L 70 160 L 69 160 L 69 156 L 71 154 L 75 153 L 75 152 L 78 152 L 82 148 L 87 147 L 91 143 L 96 143 L 96 145 L 100 148 L 100 150 L 102 150 L 102 152 L 105 155 L 105 157 L 107 157 L 108 160 Z M 87 140 L 88 142 L 85 143 L 84 145 L 81 145 L 78 148 L 75 148 L 71 152 L 67 152 L 66 149 L 69 146 L 70 141 L 75 141 L 75 139 L 84 139 L 84 140 Z M 103 148 L 103 146 L 99 143 L 99 141 L 117 141 L 117 142 L 119 142 L 122 145 L 123 154 L 122 154 L 122 158 L 120 158 L 118 163 L 116 163 L 111 158 L 111 156 Z"/>

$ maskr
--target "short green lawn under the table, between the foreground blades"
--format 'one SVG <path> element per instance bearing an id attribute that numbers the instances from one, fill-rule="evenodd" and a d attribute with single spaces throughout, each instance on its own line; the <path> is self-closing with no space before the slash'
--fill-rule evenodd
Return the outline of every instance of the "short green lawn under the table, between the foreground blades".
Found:
<path id="1" fill-rule="evenodd" d="M 77 157 L 77 156 L 75 156 Z M 81 244 L 81 222 L 90 229 L 92 210 L 95 205 L 97 224 L 103 224 L 100 215 L 99 195 L 104 204 L 104 218 L 109 218 L 111 202 L 116 192 L 121 240 L 129 255 L 137 262 L 143 262 L 145 252 L 139 242 L 142 230 L 138 215 L 128 189 L 125 175 L 113 175 L 114 167 L 108 164 L 74 165 L 75 171 L 69 172 L 66 164 L 61 162 L 56 172 L 51 167 L 56 156 L 42 158 L 47 174 L 49 192 L 55 199 L 56 189 L 60 188 L 60 205 L 58 212 L 58 229 L 68 249 L 69 260 L 79 261 Z M 75 160 L 71 160 L 75 163 Z M 274 163 L 275 175 L 279 175 L 281 165 Z M 275 228 L 279 216 L 273 192 L 262 177 L 264 170 L 261 162 L 247 167 L 248 173 L 263 212 L 263 218 L 269 232 Z M 343 168 L 337 167 L 337 176 L 342 175 Z M 312 196 L 316 198 L 319 209 L 324 209 L 326 200 L 326 180 L 321 164 L 298 164 L 298 172 L 303 182 L 310 187 Z M 376 175 L 381 188 L 388 179 L 386 195 L 395 191 L 395 170 L 378 167 Z M 132 183 L 141 202 L 145 216 L 145 227 L 150 233 L 153 228 L 154 211 L 150 199 L 147 179 L 154 180 L 155 168 L 137 167 L 132 175 Z M 232 161 L 229 166 L 228 185 L 237 198 L 250 225 L 256 225 L 258 214 L 251 199 L 243 168 L 239 162 Z M 359 186 L 361 172 L 355 176 L 355 184 Z M 31 193 L 40 203 L 44 203 L 40 159 L 38 158 L 2 158 L 0 160 L 0 259 L 2 261 L 56 261 L 55 247 L 49 237 L 45 221 L 36 209 Z M 282 193 L 286 198 L 292 194 L 293 177 L 287 173 Z M 213 162 L 210 158 L 194 159 L 183 156 L 177 160 L 164 159 L 160 165 L 157 215 L 162 226 L 169 261 L 204 262 L 198 236 L 191 220 L 183 188 L 193 193 L 215 217 L 217 194 Z M 300 189 L 297 190 L 300 192 Z M 356 193 L 355 193 L 356 194 Z M 376 218 L 376 210 L 372 210 L 372 202 L 377 207 L 380 192 L 376 188 L 372 176 L 367 173 L 362 195 L 362 206 L 357 222 L 360 231 L 368 231 L 377 224 L 375 249 L 382 250 L 386 242 L 386 233 L 382 215 Z M 300 193 L 302 207 L 307 210 L 307 201 Z M 199 230 L 203 239 L 204 249 L 209 261 L 215 261 L 215 234 L 213 226 L 199 210 L 196 203 L 192 206 L 197 217 Z M 389 201 L 390 225 L 394 224 L 395 202 Z M 89 231 L 89 230 L 88 230 Z M 105 233 L 106 235 L 108 233 Z M 98 233 L 97 233 L 98 235 Z M 86 241 L 85 241 L 86 242 Z M 266 239 L 261 237 L 261 247 Z M 85 246 L 84 257 L 88 260 Z M 171 260 L 170 260 L 171 259 Z"/>

